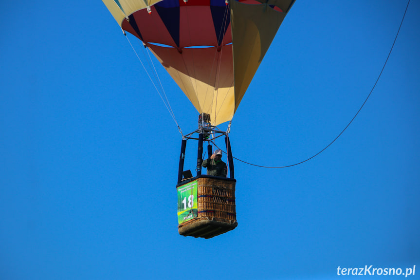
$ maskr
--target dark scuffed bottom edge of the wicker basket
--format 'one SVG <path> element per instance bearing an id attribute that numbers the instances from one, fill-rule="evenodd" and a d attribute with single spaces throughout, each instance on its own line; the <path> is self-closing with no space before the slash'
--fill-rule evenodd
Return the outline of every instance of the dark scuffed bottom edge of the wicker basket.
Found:
<path id="1" fill-rule="evenodd" d="M 178 232 L 183 236 L 202 237 L 209 239 L 237 227 L 237 221 L 221 222 L 215 219 L 200 219 L 192 223 L 185 224 L 178 228 Z"/>

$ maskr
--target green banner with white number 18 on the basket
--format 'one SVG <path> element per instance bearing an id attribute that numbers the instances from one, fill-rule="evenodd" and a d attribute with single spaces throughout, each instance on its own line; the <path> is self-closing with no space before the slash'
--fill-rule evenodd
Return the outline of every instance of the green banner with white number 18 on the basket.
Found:
<path id="1" fill-rule="evenodd" d="M 177 188 L 178 224 L 198 216 L 197 192 L 197 180 Z"/>

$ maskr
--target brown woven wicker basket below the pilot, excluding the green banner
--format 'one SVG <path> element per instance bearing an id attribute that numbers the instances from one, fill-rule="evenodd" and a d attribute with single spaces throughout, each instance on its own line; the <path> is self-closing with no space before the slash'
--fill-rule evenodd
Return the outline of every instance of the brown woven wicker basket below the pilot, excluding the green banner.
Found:
<path id="1" fill-rule="evenodd" d="M 178 226 L 183 236 L 205 239 L 237 227 L 235 207 L 235 179 L 201 175 L 193 178 L 198 183 L 198 215 Z M 188 182 L 177 186 L 182 187 Z"/>

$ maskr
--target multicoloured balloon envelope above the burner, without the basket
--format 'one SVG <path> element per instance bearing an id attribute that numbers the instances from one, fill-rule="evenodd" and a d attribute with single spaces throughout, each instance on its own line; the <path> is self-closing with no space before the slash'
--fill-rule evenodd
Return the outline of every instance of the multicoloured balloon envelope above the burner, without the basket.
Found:
<path id="1" fill-rule="evenodd" d="M 294 0 L 103 2 L 218 125 L 232 119 Z"/>

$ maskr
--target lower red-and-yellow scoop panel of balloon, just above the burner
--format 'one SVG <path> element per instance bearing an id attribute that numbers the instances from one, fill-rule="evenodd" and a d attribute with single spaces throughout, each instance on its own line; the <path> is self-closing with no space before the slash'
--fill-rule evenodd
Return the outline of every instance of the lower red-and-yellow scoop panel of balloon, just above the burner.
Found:
<path id="1" fill-rule="evenodd" d="M 212 125 L 230 121 L 235 112 L 232 45 L 176 48 L 147 44 L 199 113 Z"/>

